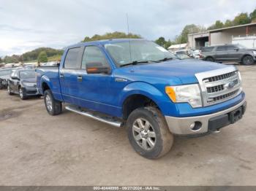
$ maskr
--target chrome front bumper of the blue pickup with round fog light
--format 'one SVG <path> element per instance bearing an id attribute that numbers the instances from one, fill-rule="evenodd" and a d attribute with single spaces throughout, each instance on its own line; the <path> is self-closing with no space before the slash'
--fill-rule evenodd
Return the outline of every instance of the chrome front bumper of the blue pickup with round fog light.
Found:
<path id="1" fill-rule="evenodd" d="M 201 134 L 207 133 L 209 131 L 218 130 L 223 128 L 234 121 L 230 121 L 230 113 L 236 109 L 241 108 L 244 111 L 246 109 L 245 99 L 241 101 L 236 106 L 225 109 L 221 112 L 214 114 L 206 114 L 195 117 L 170 117 L 165 116 L 168 128 L 171 133 L 176 135 L 191 135 L 191 134 Z M 197 128 L 192 129 L 191 125 L 195 122 Z"/>

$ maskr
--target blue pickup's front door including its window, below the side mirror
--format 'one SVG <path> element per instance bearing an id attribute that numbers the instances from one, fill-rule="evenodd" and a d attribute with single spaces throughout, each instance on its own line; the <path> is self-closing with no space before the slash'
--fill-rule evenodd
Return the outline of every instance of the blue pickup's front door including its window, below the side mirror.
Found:
<path id="1" fill-rule="evenodd" d="M 118 111 L 113 95 L 115 80 L 113 74 L 87 74 L 86 66 L 110 67 L 102 47 L 87 46 L 83 52 L 81 83 L 79 84 L 80 106 L 96 110 L 106 114 L 114 114 Z"/>

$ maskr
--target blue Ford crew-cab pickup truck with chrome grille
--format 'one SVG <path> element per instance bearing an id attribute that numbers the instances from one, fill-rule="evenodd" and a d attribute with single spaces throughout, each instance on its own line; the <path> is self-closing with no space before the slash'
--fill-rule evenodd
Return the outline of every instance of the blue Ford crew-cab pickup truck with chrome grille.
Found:
<path id="1" fill-rule="evenodd" d="M 132 147 L 154 159 L 173 135 L 219 132 L 246 110 L 235 66 L 179 60 L 145 39 L 110 39 L 67 47 L 58 68 L 37 69 L 49 114 L 65 109 L 126 127 Z"/>

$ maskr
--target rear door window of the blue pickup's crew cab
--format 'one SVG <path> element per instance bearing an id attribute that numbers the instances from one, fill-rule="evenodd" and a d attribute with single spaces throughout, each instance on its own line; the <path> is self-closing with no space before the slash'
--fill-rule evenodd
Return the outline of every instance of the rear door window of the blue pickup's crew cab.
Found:
<path id="1" fill-rule="evenodd" d="M 79 53 L 80 47 L 75 47 L 68 50 L 64 62 L 65 69 L 80 69 Z"/>

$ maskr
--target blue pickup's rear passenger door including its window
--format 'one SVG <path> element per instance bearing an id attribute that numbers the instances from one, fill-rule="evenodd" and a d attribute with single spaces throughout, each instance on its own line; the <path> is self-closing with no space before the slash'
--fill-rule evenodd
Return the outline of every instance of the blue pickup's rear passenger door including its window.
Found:
<path id="1" fill-rule="evenodd" d="M 81 59 L 83 47 L 72 47 L 67 50 L 64 65 L 59 70 L 59 81 L 61 93 L 65 102 L 69 104 L 79 104 L 78 77 L 80 76 Z"/>

